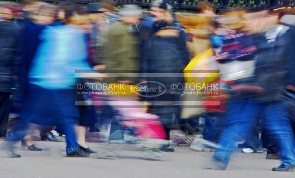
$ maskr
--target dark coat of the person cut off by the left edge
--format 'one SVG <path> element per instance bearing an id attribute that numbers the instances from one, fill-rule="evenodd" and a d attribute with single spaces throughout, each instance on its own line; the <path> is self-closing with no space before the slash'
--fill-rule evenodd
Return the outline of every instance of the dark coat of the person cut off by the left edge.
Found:
<path id="1" fill-rule="evenodd" d="M 11 91 L 18 73 L 17 31 L 15 24 L 0 22 L 0 92 Z"/>

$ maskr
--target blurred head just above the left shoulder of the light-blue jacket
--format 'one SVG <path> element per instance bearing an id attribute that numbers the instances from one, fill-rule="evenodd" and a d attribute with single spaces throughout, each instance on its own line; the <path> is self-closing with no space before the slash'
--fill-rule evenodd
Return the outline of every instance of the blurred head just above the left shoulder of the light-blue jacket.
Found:
<path id="1" fill-rule="evenodd" d="M 51 24 L 55 20 L 57 7 L 50 4 L 43 4 L 32 12 L 32 20 L 38 24 Z"/>

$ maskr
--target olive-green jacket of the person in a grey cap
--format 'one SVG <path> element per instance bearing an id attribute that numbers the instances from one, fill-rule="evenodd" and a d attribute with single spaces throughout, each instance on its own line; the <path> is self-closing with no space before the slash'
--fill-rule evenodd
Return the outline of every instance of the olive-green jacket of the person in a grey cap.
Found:
<path id="1" fill-rule="evenodd" d="M 136 83 L 138 76 L 130 73 L 138 73 L 139 49 L 139 39 L 130 32 L 128 26 L 122 22 L 114 23 L 108 32 L 103 62 L 106 65 L 105 73 L 116 73 L 116 76 L 110 75 L 105 81 L 113 83 L 118 80 L 131 80 Z"/>

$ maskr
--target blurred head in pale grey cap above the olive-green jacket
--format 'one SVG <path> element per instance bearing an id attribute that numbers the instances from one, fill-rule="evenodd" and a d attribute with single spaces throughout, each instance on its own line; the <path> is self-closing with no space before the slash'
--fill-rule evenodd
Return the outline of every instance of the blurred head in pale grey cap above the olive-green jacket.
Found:
<path id="1" fill-rule="evenodd" d="M 125 24 L 138 23 L 142 15 L 138 5 L 124 5 L 118 14 L 121 21 Z"/>

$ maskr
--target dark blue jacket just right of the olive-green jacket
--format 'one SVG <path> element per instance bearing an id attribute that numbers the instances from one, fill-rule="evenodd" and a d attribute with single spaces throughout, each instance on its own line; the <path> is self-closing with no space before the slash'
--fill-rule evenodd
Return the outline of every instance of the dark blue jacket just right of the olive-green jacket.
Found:
<path id="1" fill-rule="evenodd" d="M 162 30 L 178 30 L 177 36 L 157 35 Z M 189 62 L 189 55 L 186 48 L 186 35 L 177 23 L 159 27 L 153 25 L 151 36 L 147 40 L 141 61 L 142 73 L 183 73 L 183 69 Z M 156 80 L 169 87 L 171 83 L 183 82 L 183 78 L 153 78 L 150 75 L 142 75 L 143 78 Z M 168 86 L 169 85 L 169 86 Z"/>

